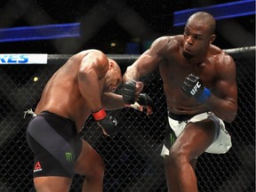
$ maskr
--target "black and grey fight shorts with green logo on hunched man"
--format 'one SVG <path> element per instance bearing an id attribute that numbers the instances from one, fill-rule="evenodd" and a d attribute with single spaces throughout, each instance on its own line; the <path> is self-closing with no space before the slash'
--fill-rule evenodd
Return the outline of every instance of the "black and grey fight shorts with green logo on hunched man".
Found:
<path id="1" fill-rule="evenodd" d="M 76 134 L 73 121 L 44 111 L 30 120 L 26 136 L 35 156 L 34 178 L 73 177 L 82 150 L 82 139 Z"/>

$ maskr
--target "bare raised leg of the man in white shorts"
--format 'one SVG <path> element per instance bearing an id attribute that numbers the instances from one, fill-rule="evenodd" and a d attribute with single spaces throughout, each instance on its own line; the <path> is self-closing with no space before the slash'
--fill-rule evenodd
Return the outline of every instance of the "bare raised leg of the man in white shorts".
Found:
<path id="1" fill-rule="evenodd" d="M 189 123 L 164 158 L 169 192 L 197 192 L 195 157 L 212 144 L 215 128 L 212 120 Z"/>

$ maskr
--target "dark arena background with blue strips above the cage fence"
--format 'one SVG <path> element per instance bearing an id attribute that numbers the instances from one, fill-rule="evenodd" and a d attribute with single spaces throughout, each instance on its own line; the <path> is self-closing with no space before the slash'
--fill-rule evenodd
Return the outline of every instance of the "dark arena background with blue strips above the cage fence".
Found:
<path id="1" fill-rule="evenodd" d="M 177 17 L 183 23 L 199 10 L 218 19 L 214 44 L 255 44 L 254 0 L 2 0 L 1 52 L 73 54 L 95 48 L 140 54 L 158 36 L 182 34 Z"/>

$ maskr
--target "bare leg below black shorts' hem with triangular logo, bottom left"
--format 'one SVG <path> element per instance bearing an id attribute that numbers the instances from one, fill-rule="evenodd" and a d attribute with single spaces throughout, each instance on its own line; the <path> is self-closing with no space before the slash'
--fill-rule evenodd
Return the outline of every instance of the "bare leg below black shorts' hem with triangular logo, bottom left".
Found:
<path id="1" fill-rule="evenodd" d="M 66 177 L 44 176 L 34 179 L 36 192 L 68 192 L 71 183 L 72 179 Z"/>

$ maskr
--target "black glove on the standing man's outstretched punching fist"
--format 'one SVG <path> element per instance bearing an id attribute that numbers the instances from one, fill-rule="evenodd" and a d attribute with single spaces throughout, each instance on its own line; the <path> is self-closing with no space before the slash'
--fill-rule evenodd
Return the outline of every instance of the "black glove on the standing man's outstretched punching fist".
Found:
<path id="1" fill-rule="evenodd" d="M 125 104 L 133 104 L 135 102 L 136 81 L 128 81 L 124 84 L 122 94 Z"/>

